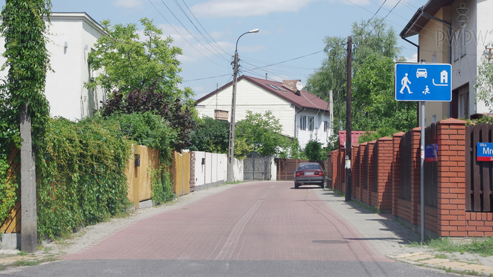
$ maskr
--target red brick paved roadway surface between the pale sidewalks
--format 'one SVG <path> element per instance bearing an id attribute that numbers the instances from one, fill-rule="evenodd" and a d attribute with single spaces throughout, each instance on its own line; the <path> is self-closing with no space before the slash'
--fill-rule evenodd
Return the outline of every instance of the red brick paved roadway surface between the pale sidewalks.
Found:
<path id="1" fill-rule="evenodd" d="M 313 190 L 293 189 L 292 182 L 242 183 L 63 258 L 392 261 Z"/>

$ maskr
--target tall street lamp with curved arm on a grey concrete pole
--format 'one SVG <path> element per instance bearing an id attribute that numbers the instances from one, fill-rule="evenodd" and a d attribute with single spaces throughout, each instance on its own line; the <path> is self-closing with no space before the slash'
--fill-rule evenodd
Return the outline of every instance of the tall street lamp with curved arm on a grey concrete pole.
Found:
<path id="1" fill-rule="evenodd" d="M 229 124 L 229 150 L 228 150 L 228 173 L 226 181 L 234 182 L 233 161 L 234 161 L 234 131 L 235 131 L 235 112 L 236 112 L 236 76 L 238 75 L 238 41 L 246 34 L 258 33 L 259 29 L 253 29 L 242 34 L 236 40 L 234 66 L 233 66 L 233 94 L 231 95 L 231 124 Z"/>

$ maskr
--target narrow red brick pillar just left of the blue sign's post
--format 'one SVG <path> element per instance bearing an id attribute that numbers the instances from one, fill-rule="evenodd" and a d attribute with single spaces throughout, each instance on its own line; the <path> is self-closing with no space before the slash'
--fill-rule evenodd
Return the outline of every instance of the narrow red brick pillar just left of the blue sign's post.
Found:
<path id="1" fill-rule="evenodd" d="M 412 172 L 411 172 L 411 223 L 420 225 L 421 208 L 421 127 L 412 129 Z"/>

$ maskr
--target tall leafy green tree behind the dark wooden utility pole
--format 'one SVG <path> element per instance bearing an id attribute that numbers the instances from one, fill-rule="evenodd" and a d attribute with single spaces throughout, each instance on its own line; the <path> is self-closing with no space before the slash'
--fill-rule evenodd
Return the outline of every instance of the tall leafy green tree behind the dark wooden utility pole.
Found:
<path id="1" fill-rule="evenodd" d="M 394 29 L 381 20 L 353 23 L 353 129 L 372 131 L 379 124 L 396 124 L 404 130 L 416 122 L 416 103 L 394 103 L 393 61 L 402 60 Z M 329 99 L 333 91 L 334 131 L 346 122 L 346 38 L 326 37 L 327 57 L 312 74 L 305 89 Z M 370 70 L 368 72 L 368 70 Z M 359 78 L 359 79 L 358 79 Z M 376 86 L 375 88 L 373 86 Z M 392 90 L 390 90 L 392 88 Z M 377 99 L 373 97 L 378 96 Z M 372 107 L 375 105 L 376 107 Z"/>

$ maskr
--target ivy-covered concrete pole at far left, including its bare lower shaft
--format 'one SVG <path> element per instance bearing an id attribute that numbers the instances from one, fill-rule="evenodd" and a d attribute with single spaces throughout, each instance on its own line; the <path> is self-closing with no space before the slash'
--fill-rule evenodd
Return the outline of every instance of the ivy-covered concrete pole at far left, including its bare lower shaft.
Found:
<path id="1" fill-rule="evenodd" d="M 6 58 L 2 70 L 8 76 L 2 90 L 2 120 L 9 120 L 12 128 L 19 127 L 21 136 L 21 250 L 37 250 L 36 209 L 36 146 L 40 147 L 49 120 L 49 104 L 45 97 L 45 82 L 49 70 L 46 49 L 45 20 L 51 13 L 49 0 L 7 0 L 1 11 L 1 36 L 5 38 Z M 18 124 L 14 120 L 19 120 Z M 3 128 L 4 129 L 4 128 Z M 32 132 L 31 132 L 32 131 Z M 34 140 L 33 140 L 34 138 Z M 35 148 L 31 142 L 34 141 Z"/>

